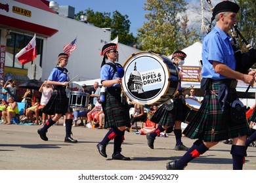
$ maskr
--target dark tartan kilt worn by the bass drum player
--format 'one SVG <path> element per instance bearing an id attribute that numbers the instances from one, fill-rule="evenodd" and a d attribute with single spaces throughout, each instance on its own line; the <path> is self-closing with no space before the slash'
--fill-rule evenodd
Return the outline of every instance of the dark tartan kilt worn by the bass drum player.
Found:
<path id="1" fill-rule="evenodd" d="M 121 95 L 106 90 L 106 103 L 103 105 L 104 128 L 131 127 L 128 104 L 121 103 Z"/>

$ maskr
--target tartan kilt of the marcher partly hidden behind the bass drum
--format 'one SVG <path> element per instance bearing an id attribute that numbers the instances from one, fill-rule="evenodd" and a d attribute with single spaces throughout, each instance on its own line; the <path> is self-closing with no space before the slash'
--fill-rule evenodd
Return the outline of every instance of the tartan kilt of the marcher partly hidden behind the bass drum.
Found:
<path id="1" fill-rule="evenodd" d="M 166 110 L 165 105 L 161 105 L 154 113 L 150 121 L 161 126 L 174 126 L 175 121 L 184 121 L 184 103 L 182 99 L 175 99 L 172 110 Z"/>

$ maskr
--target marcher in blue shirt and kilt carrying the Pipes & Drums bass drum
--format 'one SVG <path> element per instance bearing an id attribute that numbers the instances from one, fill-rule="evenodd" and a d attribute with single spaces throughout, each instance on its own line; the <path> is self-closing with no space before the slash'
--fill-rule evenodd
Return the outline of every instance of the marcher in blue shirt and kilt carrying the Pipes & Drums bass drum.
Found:
<path id="1" fill-rule="evenodd" d="M 115 61 L 118 56 L 117 45 L 105 44 L 101 55 L 104 56 L 100 69 L 100 80 L 106 88 L 105 102 L 102 103 L 105 124 L 110 128 L 104 139 L 96 147 L 101 156 L 107 158 L 106 146 L 114 139 L 114 153 L 112 159 L 130 160 L 121 154 L 121 143 L 125 135 L 125 127 L 129 125 L 129 110 L 121 103 L 121 78 L 117 77 Z M 106 60 L 105 60 L 106 59 Z M 111 64 L 111 65 L 109 65 Z"/>

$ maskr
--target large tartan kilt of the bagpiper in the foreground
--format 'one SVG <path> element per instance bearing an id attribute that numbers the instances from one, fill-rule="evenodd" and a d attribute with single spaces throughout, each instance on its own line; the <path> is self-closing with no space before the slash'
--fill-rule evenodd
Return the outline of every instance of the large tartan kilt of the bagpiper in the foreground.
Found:
<path id="1" fill-rule="evenodd" d="M 186 137 L 219 142 L 250 134 L 245 116 L 242 124 L 235 124 L 230 119 L 230 105 L 224 112 L 221 110 L 218 90 L 219 84 L 211 84 L 211 91 L 205 94 L 200 109 L 183 131 Z M 229 89 L 227 101 L 230 103 L 234 99 L 237 99 L 236 89 Z"/>

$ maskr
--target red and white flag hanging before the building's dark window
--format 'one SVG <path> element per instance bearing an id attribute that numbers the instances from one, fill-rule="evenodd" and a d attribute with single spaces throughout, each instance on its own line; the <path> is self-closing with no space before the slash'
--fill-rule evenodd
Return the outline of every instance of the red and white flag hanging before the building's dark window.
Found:
<path id="1" fill-rule="evenodd" d="M 33 59 L 37 58 L 37 48 L 35 45 L 35 35 L 33 36 L 32 40 L 28 43 L 28 45 L 20 50 L 18 54 L 16 54 L 16 58 L 22 65 L 33 61 Z"/>

